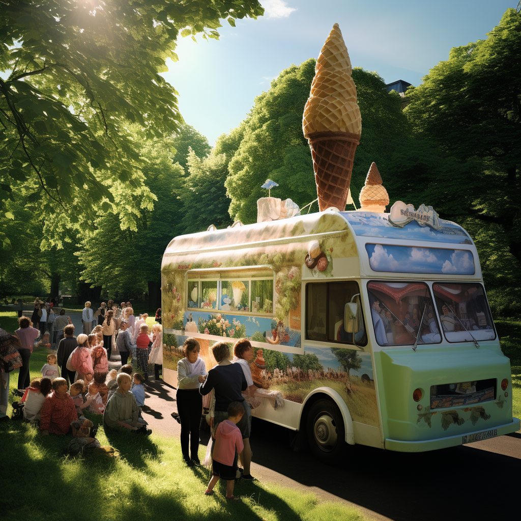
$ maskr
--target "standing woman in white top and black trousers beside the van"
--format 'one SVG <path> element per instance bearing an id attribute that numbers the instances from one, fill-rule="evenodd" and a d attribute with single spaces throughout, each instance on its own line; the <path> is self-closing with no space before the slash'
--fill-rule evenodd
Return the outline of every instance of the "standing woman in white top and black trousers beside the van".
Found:
<path id="1" fill-rule="evenodd" d="M 199 358 L 201 346 L 195 338 L 187 338 L 183 347 L 184 358 L 177 363 L 177 412 L 181 420 L 181 452 L 189 467 L 200 465 L 199 426 L 203 412 L 203 397 L 199 394 L 201 383 L 206 380 L 206 366 Z M 190 453 L 188 445 L 190 440 Z M 191 454 L 191 457 L 190 457 Z"/>

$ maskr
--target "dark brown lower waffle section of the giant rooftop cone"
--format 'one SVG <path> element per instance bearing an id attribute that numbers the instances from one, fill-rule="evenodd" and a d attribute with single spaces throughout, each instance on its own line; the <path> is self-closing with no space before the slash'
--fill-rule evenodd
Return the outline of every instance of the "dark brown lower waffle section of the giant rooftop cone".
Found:
<path id="1" fill-rule="evenodd" d="M 344 210 L 359 134 L 329 131 L 312 132 L 306 137 L 313 157 L 320 212 L 331 207 Z"/>

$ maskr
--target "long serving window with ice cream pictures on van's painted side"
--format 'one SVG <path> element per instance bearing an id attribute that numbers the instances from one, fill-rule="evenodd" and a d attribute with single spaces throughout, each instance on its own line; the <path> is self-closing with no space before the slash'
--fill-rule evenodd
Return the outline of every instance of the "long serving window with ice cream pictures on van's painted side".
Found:
<path id="1" fill-rule="evenodd" d="M 188 309 L 272 315 L 274 273 L 263 270 L 201 271 L 189 274 Z"/>

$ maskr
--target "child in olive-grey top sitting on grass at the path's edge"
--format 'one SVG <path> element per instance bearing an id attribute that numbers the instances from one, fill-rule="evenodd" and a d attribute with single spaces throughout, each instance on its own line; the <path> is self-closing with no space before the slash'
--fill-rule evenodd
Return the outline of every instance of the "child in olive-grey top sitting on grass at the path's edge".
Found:
<path id="1" fill-rule="evenodd" d="M 103 414 L 103 427 L 123 427 L 133 432 L 150 435 L 152 431 L 139 423 L 138 404 L 134 395 L 129 392 L 131 386 L 130 376 L 119 373 L 117 377 L 118 390 L 110 396 Z"/>

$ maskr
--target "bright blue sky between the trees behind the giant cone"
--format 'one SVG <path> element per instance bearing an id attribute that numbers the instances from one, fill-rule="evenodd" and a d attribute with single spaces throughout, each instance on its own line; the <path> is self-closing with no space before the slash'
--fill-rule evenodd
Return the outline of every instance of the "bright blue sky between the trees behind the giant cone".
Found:
<path id="1" fill-rule="evenodd" d="M 353 66 L 418 85 L 452 47 L 485 39 L 517 0 L 261 0 L 257 20 L 223 21 L 220 40 L 180 38 L 165 78 L 184 119 L 214 145 L 292 64 L 316 58 L 338 22 Z"/>

